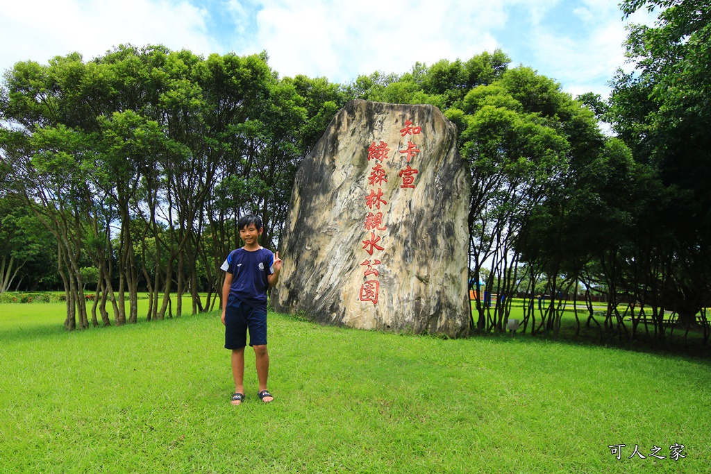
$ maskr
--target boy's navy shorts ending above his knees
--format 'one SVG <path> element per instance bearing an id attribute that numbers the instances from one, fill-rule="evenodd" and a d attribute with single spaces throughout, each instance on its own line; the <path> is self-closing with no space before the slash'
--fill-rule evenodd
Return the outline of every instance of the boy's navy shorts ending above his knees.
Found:
<path id="1" fill-rule="evenodd" d="M 250 346 L 267 344 L 267 313 L 242 303 L 237 296 L 227 298 L 225 308 L 225 349 L 241 349 L 247 345 L 247 329 L 250 330 Z"/>

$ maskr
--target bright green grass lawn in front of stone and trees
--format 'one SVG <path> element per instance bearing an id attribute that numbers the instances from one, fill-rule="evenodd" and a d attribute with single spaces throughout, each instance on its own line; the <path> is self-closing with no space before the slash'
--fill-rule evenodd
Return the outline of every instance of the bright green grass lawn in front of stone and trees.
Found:
<path id="1" fill-rule="evenodd" d="M 64 308 L 0 304 L 1 473 L 711 472 L 708 360 L 270 313 L 276 399 L 248 350 L 232 406 L 218 313 L 65 333 Z"/>

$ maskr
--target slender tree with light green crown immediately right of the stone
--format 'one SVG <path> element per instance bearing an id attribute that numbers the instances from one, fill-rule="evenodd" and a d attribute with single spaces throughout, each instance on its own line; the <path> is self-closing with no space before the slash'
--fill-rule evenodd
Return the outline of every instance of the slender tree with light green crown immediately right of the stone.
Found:
<path id="1" fill-rule="evenodd" d="M 472 173 L 471 279 L 481 281 L 488 263 L 488 293 L 513 296 L 529 222 L 542 214 L 573 158 L 582 153 L 574 134 L 594 130 L 594 120 L 560 85 L 523 67 L 475 87 L 463 107 L 449 109 L 447 115 L 462 129 L 461 154 Z M 530 281 L 535 284 L 535 278 Z M 476 309 L 479 329 L 503 328 L 505 306 L 497 305 L 493 316 L 486 301 L 477 301 Z"/>

